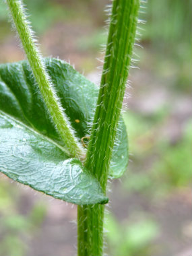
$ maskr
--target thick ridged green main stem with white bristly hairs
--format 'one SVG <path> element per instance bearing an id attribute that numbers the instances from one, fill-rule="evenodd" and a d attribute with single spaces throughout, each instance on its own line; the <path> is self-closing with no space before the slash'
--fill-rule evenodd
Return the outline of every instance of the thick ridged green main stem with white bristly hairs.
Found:
<path id="1" fill-rule="evenodd" d="M 108 168 L 121 114 L 137 27 L 139 0 L 114 0 L 86 168 L 106 193 Z M 104 205 L 78 206 L 78 256 L 102 256 Z"/>

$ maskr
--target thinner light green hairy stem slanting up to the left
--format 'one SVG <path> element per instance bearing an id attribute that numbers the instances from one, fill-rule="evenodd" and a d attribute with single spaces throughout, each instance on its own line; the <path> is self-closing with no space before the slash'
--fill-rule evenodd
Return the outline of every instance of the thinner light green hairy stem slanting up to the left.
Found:
<path id="1" fill-rule="evenodd" d="M 34 39 L 34 32 L 30 28 L 30 23 L 26 19 L 24 7 L 21 0 L 7 0 L 7 5 L 11 11 L 11 16 L 15 24 L 16 30 L 22 41 L 24 51 L 28 57 L 28 61 L 34 73 L 34 77 L 40 88 L 42 98 L 46 107 L 51 114 L 53 123 L 57 127 L 57 131 L 61 135 L 69 154 L 73 157 L 83 157 L 84 149 L 75 137 L 75 132 L 69 123 L 67 115 L 59 102 L 59 98 L 54 90 L 51 82 L 51 77 L 46 72 L 46 67 L 42 60 L 40 51 L 36 46 L 36 39 Z"/>

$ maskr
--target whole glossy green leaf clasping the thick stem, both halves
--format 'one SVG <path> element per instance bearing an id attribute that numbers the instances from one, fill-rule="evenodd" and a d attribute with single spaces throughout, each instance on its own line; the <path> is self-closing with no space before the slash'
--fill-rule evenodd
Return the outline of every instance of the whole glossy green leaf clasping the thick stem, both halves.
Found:
<path id="1" fill-rule="evenodd" d="M 55 84 L 57 96 L 59 96 L 65 113 L 80 140 L 89 135 L 88 124 L 91 123 L 94 115 L 98 87 L 65 61 L 59 59 L 44 59 L 44 61 L 46 69 L 53 79 L 53 84 Z M 28 61 L 0 65 L 0 110 L 1 123 L 6 123 L 5 127 L 1 124 L 0 128 L 0 170 L 2 172 L 15 181 L 30 185 L 36 190 L 65 201 L 77 204 L 93 203 L 94 200 L 106 201 L 106 197 L 101 194 L 99 185 L 96 186 L 96 180 L 87 171 L 81 172 L 84 167 L 79 160 L 72 160 L 67 154 L 65 145 L 46 110 Z M 110 178 L 120 177 L 127 168 L 127 133 L 122 120 L 119 123 L 119 130 L 110 165 Z M 22 139 L 26 139 L 26 141 Z M 17 150 L 18 152 L 16 152 Z M 13 152 L 15 152 L 15 156 L 13 156 Z M 8 159 L 9 155 L 11 158 Z M 18 168 L 16 168 L 17 166 Z M 29 166 L 34 166 L 34 170 L 30 170 Z M 50 167 L 45 171 L 45 166 L 53 168 Z M 79 167 L 77 168 L 77 166 Z M 77 181 L 73 180 L 73 185 L 77 186 L 78 184 L 79 187 L 77 186 L 75 189 L 73 185 L 70 185 L 71 192 L 69 193 L 67 191 L 70 189 L 66 182 L 68 183 L 71 178 L 68 177 L 68 179 L 66 175 L 70 176 L 71 170 L 75 172 L 74 177 L 77 177 Z M 62 175 L 65 173 L 65 179 L 61 179 L 60 172 Z M 79 177 L 83 175 L 86 183 L 79 182 L 81 179 Z M 51 190 L 54 183 L 56 183 L 57 191 L 55 188 Z M 92 190 L 94 193 L 90 191 L 93 186 L 84 186 L 93 183 L 95 184 Z M 69 184 L 72 183 L 69 182 Z M 39 187 L 40 185 L 42 187 Z M 65 188 L 65 193 L 59 190 L 59 186 L 61 190 Z"/>

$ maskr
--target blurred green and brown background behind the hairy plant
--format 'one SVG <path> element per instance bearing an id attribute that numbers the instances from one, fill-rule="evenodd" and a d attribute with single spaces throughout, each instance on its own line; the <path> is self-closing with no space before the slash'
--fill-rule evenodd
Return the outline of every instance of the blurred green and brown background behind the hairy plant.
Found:
<path id="1" fill-rule="evenodd" d="M 24 1 L 44 56 L 99 82 L 107 0 Z M 148 0 L 125 97 L 130 162 L 108 186 L 106 253 L 191 255 L 191 1 Z M 0 2 L 0 62 L 24 59 Z M 139 57 L 137 57 L 139 56 Z M 129 96 L 131 95 L 131 96 Z M 127 106 L 129 108 L 127 108 Z M 75 255 L 76 207 L 0 177 L 0 256 Z"/>

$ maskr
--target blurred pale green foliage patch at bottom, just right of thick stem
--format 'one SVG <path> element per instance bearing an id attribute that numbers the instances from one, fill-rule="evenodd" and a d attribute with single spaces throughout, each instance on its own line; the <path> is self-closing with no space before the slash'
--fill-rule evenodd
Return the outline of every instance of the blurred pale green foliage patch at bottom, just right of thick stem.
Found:
<path id="1" fill-rule="evenodd" d="M 123 228 L 125 227 L 125 228 Z M 108 240 L 108 250 L 111 255 L 130 256 L 148 255 L 154 248 L 152 241 L 158 236 L 158 224 L 151 216 L 136 216 L 119 224 L 115 217 L 107 216 L 105 226 Z M 140 255 L 141 255 L 140 254 Z"/>

